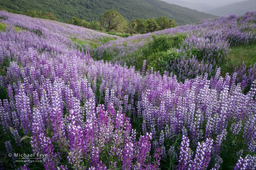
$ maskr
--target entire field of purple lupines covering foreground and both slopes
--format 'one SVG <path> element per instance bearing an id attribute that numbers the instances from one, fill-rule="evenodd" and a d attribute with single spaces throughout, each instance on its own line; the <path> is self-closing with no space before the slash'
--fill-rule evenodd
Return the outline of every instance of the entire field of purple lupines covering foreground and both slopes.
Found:
<path id="1" fill-rule="evenodd" d="M 231 47 L 255 43 L 255 12 L 154 33 L 187 34 L 171 50 L 184 56 L 163 74 L 146 61 L 140 71 L 122 63 L 151 34 L 86 51 L 72 38 L 113 36 L 6 11 L 0 18 L 8 25 L 0 31 L 0 168 L 256 168 L 256 64 L 231 74 L 217 67 Z M 188 55 L 194 49 L 203 55 Z M 91 57 L 105 50 L 119 63 Z"/>

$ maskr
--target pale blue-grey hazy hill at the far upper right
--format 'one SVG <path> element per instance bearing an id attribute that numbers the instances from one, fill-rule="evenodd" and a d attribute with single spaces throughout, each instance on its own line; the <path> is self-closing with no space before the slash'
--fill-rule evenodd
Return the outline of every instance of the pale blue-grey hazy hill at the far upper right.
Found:
<path id="1" fill-rule="evenodd" d="M 256 11 L 256 0 L 247 0 L 215 8 L 207 13 L 216 16 L 227 16 L 230 14 L 242 15 L 247 11 Z"/>

